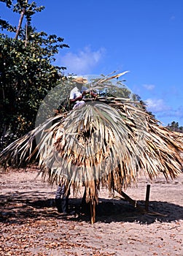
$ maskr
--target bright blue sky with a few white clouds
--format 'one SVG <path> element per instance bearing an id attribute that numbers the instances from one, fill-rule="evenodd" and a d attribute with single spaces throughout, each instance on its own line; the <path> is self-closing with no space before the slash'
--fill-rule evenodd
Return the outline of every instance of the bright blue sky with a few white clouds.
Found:
<path id="1" fill-rule="evenodd" d="M 33 16 L 38 31 L 57 34 L 70 48 L 56 56 L 66 75 L 123 72 L 125 85 L 147 102 L 163 125 L 183 126 L 182 0 L 44 0 Z M 1 18 L 19 16 L 0 3 Z"/>

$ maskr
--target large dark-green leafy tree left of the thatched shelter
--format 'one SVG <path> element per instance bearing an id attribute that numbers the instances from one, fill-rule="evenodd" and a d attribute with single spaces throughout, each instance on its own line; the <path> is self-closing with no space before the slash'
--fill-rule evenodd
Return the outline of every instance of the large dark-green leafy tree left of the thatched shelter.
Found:
<path id="1" fill-rule="evenodd" d="M 59 83 L 65 67 L 54 66 L 55 54 L 59 49 L 69 47 L 63 38 L 55 34 L 47 35 L 31 27 L 31 18 L 44 7 L 36 7 L 32 2 L 4 1 L 14 12 L 24 13 L 28 34 L 19 26 L 9 25 L 0 20 L 1 29 L 16 31 L 16 37 L 0 34 L 0 148 L 21 137 L 34 127 L 36 112 L 47 92 Z M 17 39 L 18 37 L 18 39 Z"/>

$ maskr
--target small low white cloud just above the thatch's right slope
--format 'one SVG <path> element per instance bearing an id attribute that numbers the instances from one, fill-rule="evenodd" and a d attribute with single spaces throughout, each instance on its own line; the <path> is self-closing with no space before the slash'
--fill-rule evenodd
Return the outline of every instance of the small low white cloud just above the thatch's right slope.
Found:
<path id="1" fill-rule="evenodd" d="M 163 99 L 146 99 L 145 102 L 147 103 L 147 109 L 152 111 L 152 113 L 170 110 L 170 107 L 166 105 Z"/>

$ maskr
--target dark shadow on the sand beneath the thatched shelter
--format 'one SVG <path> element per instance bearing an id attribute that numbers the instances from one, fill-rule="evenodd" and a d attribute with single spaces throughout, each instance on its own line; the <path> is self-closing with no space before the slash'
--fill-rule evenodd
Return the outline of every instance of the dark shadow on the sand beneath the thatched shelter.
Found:
<path id="1" fill-rule="evenodd" d="M 39 197 L 38 194 L 39 193 Z M 69 212 L 63 216 L 58 214 L 53 199 L 37 200 L 42 198 L 42 193 L 35 191 L 17 192 L 13 195 L 0 196 L 0 222 L 23 223 L 26 219 L 65 219 L 77 222 L 90 222 L 90 212 L 82 211 L 81 199 L 69 199 Z M 144 201 L 138 201 L 144 207 Z M 150 201 L 149 211 L 157 214 L 141 214 L 137 208 L 131 206 L 123 199 L 104 199 L 99 198 L 96 206 L 96 222 L 139 222 L 141 224 L 151 224 L 156 221 L 172 222 L 183 219 L 183 207 L 174 203 Z M 159 214 L 158 214 L 159 213 Z"/>

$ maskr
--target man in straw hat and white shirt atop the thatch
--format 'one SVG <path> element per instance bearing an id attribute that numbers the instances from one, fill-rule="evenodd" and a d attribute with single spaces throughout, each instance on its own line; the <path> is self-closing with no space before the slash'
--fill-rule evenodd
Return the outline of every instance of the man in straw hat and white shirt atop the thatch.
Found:
<path id="1" fill-rule="evenodd" d="M 74 109 L 85 104 L 83 99 L 85 97 L 87 88 L 84 86 L 84 84 L 87 83 L 87 79 L 78 77 L 75 78 L 73 82 L 76 83 L 76 86 L 71 90 L 69 99 L 71 103 L 74 103 Z M 90 91 L 90 95 L 96 97 L 97 94 Z"/>

